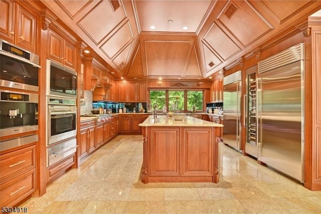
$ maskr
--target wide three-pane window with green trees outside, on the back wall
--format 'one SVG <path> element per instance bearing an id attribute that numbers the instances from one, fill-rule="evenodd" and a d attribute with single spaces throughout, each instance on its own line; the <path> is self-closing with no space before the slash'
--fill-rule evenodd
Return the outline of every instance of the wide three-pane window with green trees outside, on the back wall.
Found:
<path id="1" fill-rule="evenodd" d="M 204 92 L 190 90 L 149 90 L 149 100 L 152 108 L 157 104 L 160 111 L 166 106 L 168 111 L 197 111 L 204 110 Z"/>

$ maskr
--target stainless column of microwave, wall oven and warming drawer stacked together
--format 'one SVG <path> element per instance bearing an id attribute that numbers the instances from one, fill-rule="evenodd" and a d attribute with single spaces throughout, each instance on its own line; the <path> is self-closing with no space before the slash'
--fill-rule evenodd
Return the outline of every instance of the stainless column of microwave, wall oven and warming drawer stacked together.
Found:
<path id="1" fill-rule="evenodd" d="M 77 150 L 77 73 L 47 60 L 47 167 Z"/>

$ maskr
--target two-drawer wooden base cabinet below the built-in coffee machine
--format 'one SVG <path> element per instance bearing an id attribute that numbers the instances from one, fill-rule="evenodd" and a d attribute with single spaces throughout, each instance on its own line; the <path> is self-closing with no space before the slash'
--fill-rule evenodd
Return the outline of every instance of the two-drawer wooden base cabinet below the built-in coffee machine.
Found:
<path id="1" fill-rule="evenodd" d="M 0 205 L 14 206 L 36 189 L 36 145 L 0 156 Z"/>

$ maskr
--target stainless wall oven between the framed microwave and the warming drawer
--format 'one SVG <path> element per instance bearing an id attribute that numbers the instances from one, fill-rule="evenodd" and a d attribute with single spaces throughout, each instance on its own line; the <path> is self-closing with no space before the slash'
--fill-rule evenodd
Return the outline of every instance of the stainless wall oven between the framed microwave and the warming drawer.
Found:
<path id="1" fill-rule="evenodd" d="M 76 100 L 48 98 L 48 145 L 76 136 L 76 112 Z"/>

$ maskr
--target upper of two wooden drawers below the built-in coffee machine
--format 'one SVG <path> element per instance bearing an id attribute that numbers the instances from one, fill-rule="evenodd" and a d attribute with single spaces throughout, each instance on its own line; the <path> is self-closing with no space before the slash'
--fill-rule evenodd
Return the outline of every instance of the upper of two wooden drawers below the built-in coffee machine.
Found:
<path id="1" fill-rule="evenodd" d="M 0 157 L 0 180 L 3 181 L 7 176 L 12 177 L 14 173 L 25 171 L 36 167 L 36 146 L 19 149 L 9 152 Z"/>

